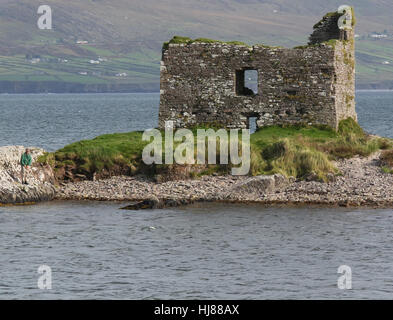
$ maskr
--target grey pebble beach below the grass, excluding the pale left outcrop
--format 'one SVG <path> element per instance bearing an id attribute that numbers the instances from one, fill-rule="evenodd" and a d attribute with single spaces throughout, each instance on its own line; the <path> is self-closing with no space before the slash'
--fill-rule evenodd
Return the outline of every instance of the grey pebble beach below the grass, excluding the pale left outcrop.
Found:
<path id="1" fill-rule="evenodd" d="M 62 184 L 56 199 L 134 202 L 128 209 L 160 208 L 193 202 L 279 205 L 393 207 L 393 175 L 384 173 L 380 153 L 335 163 L 342 175 L 330 182 L 294 181 L 274 176 L 204 176 L 198 180 L 154 182 L 118 176 Z"/>

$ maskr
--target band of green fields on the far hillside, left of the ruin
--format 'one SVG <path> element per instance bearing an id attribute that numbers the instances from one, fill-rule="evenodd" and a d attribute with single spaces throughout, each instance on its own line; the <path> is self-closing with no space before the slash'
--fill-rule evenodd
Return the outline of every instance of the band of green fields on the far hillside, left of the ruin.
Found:
<path id="1" fill-rule="evenodd" d="M 36 55 L 0 56 L 0 81 L 66 81 L 89 83 L 158 83 L 159 54 L 147 51 L 119 54 L 93 46 L 83 57 Z M 98 59 L 101 59 L 99 61 Z M 99 64 L 90 63 L 99 61 Z"/>

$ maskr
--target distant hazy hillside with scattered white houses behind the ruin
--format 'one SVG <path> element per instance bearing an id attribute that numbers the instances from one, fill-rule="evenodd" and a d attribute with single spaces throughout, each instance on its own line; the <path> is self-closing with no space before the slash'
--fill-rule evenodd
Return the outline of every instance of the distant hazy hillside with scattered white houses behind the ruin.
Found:
<path id="1" fill-rule="evenodd" d="M 358 87 L 393 88 L 393 1 L 346 3 L 358 21 Z M 0 0 L 0 92 L 156 91 L 173 35 L 293 47 L 343 2 L 46 0 L 53 30 L 37 28 L 41 4 Z"/>

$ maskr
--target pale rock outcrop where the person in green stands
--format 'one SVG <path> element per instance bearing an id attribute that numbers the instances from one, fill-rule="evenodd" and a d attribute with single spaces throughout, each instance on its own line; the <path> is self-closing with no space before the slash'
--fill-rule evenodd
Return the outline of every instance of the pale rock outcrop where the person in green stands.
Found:
<path id="1" fill-rule="evenodd" d="M 23 146 L 0 147 L 0 204 L 46 201 L 54 198 L 55 177 L 48 165 L 36 162 L 44 150 L 30 148 L 33 165 L 28 176 L 28 185 L 22 184 L 20 157 Z"/>

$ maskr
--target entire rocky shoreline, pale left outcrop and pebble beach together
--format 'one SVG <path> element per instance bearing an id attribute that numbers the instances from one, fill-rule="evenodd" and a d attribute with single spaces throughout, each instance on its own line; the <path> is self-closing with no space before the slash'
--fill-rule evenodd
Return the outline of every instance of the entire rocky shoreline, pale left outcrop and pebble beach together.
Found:
<path id="1" fill-rule="evenodd" d="M 33 159 L 44 150 L 31 148 Z M 146 176 L 115 176 L 98 181 L 55 184 L 50 166 L 33 165 L 29 185 L 20 183 L 24 147 L 0 147 L 0 204 L 57 200 L 128 202 L 126 209 L 164 208 L 194 202 L 393 207 L 393 174 L 385 173 L 380 152 L 340 160 L 340 175 L 327 183 L 272 176 L 203 176 L 157 182 Z"/>

